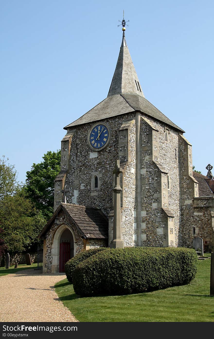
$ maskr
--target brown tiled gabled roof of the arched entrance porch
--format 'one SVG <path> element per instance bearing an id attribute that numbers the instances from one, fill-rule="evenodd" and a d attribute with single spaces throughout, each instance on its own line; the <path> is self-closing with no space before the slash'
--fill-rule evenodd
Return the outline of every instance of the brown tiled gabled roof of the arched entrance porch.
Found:
<path id="1" fill-rule="evenodd" d="M 54 223 L 57 213 L 63 210 L 85 239 L 108 239 L 108 218 L 101 208 L 61 203 L 43 228 L 42 238 Z"/>

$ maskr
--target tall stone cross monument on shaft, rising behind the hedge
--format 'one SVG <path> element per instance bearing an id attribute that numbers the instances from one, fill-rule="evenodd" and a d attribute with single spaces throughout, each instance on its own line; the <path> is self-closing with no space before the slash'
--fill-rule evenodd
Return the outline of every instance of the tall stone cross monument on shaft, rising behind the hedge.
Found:
<path id="1" fill-rule="evenodd" d="M 114 192 L 114 223 L 113 223 L 113 240 L 111 241 L 111 248 L 124 248 L 124 242 L 121 239 L 121 210 L 120 210 L 120 194 L 122 188 L 120 187 L 120 173 L 123 172 L 120 167 L 120 160 L 116 160 L 115 170 L 115 187 Z"/>

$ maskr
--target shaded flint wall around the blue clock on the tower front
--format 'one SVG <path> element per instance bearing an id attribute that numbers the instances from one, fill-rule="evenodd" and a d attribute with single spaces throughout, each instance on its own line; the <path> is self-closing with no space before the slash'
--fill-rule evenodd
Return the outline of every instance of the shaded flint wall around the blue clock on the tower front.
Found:
<path id="1" fill-rule="evenodd" d="M 125 114 L 102 120 L 111 128 L 111 140 L 97 156 L 90 157 L 93 150 L 88 145 L 88 132 L 96 123 L 91 122 L 76 127 L 70 151 L 70 170 L 66 176 L 66 201 L 84 206 L 100 207 L 108 215 L 113 207 L 113 170 L 118 159 L 118 131 L 122 122 L 132 117 Z M 91 190 L 92 173 L 98 172 L 100 189 Z M 99 185 L 98 185 L 99 186 Z"/>

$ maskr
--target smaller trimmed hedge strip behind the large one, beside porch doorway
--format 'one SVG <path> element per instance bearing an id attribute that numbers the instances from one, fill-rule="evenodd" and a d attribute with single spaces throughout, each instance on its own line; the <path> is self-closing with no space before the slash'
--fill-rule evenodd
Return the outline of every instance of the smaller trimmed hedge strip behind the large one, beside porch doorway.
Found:
<path id="1" fill-rule="evenodd" d="M 92 248 L 91 250 L 83 251 L 77 254 L 75 257 L 71 258 L 68 260 L 65 264 L 65 274 L 69 282 L 73 282 L 73 272 L 76 268 L 76 266 L 86 260 L 87 258 L 91 257 L 92 255 L 103 251 L 107 250 L 108 247 L 97 247 L 97 248 Z"/>

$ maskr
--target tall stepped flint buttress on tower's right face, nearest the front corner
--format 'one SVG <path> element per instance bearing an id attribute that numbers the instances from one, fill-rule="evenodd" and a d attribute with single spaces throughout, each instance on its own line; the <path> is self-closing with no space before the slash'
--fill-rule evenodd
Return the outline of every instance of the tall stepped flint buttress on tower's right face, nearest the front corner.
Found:
<path id="1" fill-rule="evenodd" d="M 168 206 L 168 173 L 159 162 L 159 130 L 141 118 L 140 135 L 141 210 L 136 205 L 136 243 L 175 246 L 174 214 Z"/>

